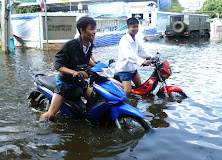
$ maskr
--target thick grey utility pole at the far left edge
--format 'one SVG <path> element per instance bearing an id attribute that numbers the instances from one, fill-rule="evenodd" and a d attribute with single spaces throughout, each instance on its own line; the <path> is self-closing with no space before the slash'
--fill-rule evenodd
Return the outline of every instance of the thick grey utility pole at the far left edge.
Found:
<path id="1" fill-rule="evenodd" d="M 10 0 L 2 0 L 2 52 L 10 53 Z"/>

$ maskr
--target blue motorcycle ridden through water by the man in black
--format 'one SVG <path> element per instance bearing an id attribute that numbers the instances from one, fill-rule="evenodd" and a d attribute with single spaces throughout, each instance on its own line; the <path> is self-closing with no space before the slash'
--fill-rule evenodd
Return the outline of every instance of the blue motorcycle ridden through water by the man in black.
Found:
<path id="1" fill-rule="evenodd" d="M 92 68 L 79 66 L 79 70 L 84 70 L 89 75 L 88 83 L 93 87 L 91 97 L 87 103 L 81 98 L 67 99 L 60 107 L 60 112 L 96 125 L 116 124 L 119 129 L 130 132 L 150 131 L 151 128 L 143 119 L 145 116 L 136 108 L 124 103 L 124 90 L 103 74 L 105 68 L 108 66 L 101 62 Z M 30 93 L 28 99 L 37 102 L 38 105 L 43 104 L 47 110 L 56 86 L 56 78 L 37 74 L 34 83 L 37 89 Z"/>

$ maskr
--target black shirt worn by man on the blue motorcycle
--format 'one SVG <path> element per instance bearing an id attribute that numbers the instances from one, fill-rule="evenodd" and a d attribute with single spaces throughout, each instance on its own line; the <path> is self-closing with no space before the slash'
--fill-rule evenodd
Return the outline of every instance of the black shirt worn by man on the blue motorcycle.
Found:
<path id="1" fill-rule="evenodd" d="M 88 49 L 87 54 L 83 52 L 83 44 L 81 37 L 72 39 L 66 42 L 61 50 L 55 55 L 54 67 L 58 70 L 61 67 L 67 67 L 77 71 L 77 65 L 89 64 L 90 57 L 92 55 L 93 44 Z M 80 84 L 77 78 L 73 78 L 72 75 L 59 73 L 58 78 L 60 81 L 69 84 Z"/>

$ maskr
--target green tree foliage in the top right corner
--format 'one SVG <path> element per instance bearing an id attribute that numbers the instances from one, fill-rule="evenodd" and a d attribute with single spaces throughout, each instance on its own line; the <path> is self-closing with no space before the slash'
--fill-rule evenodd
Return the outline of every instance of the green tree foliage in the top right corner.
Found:
<path id="1" fill-rule="evenodd" d="M 222 18 L 222 0 L 206 0 L 199 11 L 215 11 Z M 216 14 L 208 14 L 210 18 L 217 18 Z"/>

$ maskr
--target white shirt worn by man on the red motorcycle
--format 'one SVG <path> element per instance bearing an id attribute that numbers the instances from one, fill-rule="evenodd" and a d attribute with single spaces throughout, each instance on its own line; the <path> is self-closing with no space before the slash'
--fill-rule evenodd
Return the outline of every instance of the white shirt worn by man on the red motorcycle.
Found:
<path id="1" fill-rule="evenodd" d="M 153 55 L 145 50 L 136 36 L 134 41 L 126 33 L 119 42 L 118 62 L 115 69 L 117 72 L 134 72 L 147 57 L 153 57 Z"/>

